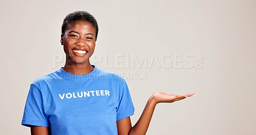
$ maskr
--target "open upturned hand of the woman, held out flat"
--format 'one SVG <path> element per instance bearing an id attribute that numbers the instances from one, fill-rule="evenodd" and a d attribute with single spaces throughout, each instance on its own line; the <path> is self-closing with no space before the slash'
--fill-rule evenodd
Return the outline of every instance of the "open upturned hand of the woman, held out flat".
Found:
<path id="1" fill-rule="evenodd" d="M 156 92 L 151 98 L 157 103 L 159 102 L 175 102 L 177 100 L 185 99 L 186 97 L 195 96 L 195 93 L 188 93 L 184 95 L 171 95 L 164 92 Z"/>

